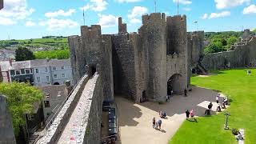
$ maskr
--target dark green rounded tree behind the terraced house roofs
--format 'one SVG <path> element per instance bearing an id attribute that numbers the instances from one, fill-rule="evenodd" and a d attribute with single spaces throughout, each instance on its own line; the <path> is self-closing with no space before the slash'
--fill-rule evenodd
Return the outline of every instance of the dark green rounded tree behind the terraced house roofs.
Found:
<path id="1" fill-rule="evenodd" d="M 19 46 L 17 50 L 15 50 L 15 60 L 16 61 L 26 61 L 34 59 L 34 54 L 31 50 L 26 47 Z"/>

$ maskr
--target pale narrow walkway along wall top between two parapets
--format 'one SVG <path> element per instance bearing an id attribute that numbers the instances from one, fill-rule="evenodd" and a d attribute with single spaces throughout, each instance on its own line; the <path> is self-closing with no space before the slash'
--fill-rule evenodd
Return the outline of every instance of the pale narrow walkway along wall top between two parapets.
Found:
<path id="1" fill-rule="evenodd" d="M 77 106 L 74 109 L 74 112 L 70 116 L 69 122 L 66 124 L 65 129 L 62 132 L 58 140 L 58 144 L 70 144 L 70 143 L 82 143 L 82 132 L 83 127 L 82 124 L 84 122 L 84 113 L 86 107 L 86 98 L 90 94 L 90 88 L 94 83 L 94 78 L 90 78 L 86 83 L 84 90 L 82 91 L 82 95 L 78 101 Z"/>

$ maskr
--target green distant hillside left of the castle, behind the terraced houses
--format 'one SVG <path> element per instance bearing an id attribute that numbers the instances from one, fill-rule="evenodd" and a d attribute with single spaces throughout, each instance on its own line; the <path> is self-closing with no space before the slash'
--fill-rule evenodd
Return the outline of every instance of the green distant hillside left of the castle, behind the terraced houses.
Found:
<path id="1" fill-rule="evenodd" d="M 36 59 L 70 58 L 67 38 L 46 36 L 43 38 L 31 38 L 25 40 L 11 39 L 0 41 L 0 60 L 15 58 L 15 50 L 17 50 L 19 46 L 26 47 L 33 51 Z"/>

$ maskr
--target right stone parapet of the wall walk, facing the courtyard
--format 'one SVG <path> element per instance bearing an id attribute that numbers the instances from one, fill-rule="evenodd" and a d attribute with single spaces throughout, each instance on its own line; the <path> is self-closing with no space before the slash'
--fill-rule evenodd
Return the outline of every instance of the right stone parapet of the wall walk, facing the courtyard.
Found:
<path id="1" fill-rule="evenodd" d="M 94 75 L 94 85 L 91 87 L 86 101 L 84 144 L 101 143 L 102 102 L 102 82 L 100 76 L 96 74 Z"/>

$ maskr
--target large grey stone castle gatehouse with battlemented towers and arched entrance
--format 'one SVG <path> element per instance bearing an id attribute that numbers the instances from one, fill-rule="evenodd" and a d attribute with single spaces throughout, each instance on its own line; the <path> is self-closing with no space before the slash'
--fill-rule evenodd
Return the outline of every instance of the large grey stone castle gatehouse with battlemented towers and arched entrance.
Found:
<path id="1" fill-rule="evenodd" d="M 81 26 L 81 37 L 70 36 L 74 83 L 87 72 L 102 75 L 105 100 L 114 94 L 135 102 L 163 102 L 170 90 L 188 87 L 186 16 L 153 13 L 142 16 L 138 33 L 127 33 L 118 18 L 118 34 L 102 34 L 101 26 Z"/>

